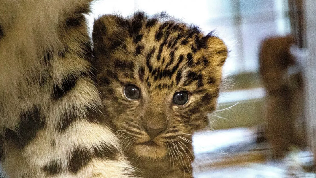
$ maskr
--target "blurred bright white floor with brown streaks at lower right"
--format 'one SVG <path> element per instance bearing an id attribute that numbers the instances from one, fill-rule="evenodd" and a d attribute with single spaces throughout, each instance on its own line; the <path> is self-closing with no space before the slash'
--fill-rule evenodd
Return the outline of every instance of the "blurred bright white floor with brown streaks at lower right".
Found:
<path id="1" fill-rule="evenodd" d="M 272 161 L 270 146 L 258 129 L 237 128 L 193 137 L 195 178 L 315 178 L 289 156 Z M 293 156 L 293 154 L 292 154 Z"/>

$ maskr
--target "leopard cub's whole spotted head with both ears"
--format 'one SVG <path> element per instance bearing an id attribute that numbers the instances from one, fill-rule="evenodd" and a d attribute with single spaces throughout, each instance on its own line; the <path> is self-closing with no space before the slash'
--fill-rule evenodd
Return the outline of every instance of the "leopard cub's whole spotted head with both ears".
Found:
<path id="1" fill-rule="evenodd" d="M 143 12 L 102 16 L 92 36 L 105 114 L 129 150 L 162 158 L 174 146 L 188 148 L 216 109 L 228 55 L 223 41 L 164 13 Z"/>

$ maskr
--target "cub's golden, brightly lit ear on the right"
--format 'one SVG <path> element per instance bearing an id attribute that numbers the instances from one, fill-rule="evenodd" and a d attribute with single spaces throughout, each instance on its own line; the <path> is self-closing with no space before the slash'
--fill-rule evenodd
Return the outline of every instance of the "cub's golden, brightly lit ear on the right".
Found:
<path id="1" fill-rule="evenodd" d="M 228 57 L 227 46 L 212 32 L 202 37 L 206 41 L 207 51 L 216 66 L 222 67 Z"/>

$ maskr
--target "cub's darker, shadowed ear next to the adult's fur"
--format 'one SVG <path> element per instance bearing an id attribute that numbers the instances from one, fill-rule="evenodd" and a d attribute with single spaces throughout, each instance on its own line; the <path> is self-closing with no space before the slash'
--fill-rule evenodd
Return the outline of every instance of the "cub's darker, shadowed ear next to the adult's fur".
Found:
<path id="1" fill-rule="evenodd" d="M 129 22 L 121 16 L 104 15 L 94 21 L 92 40 L 98 54 L 108 54 L 128 35 Z"/>

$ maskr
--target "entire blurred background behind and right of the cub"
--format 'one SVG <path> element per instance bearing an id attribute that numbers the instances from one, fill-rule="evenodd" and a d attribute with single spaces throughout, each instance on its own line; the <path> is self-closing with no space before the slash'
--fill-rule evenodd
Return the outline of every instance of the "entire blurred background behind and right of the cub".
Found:
<path id="1" fill-rule="evenodd" d="M 89 20 L 136 10 L 215 30 L 231 50 L 218 111 L 194 136 L 196 178 L 315 177 L 315 0 L 100 0 Z"/>

